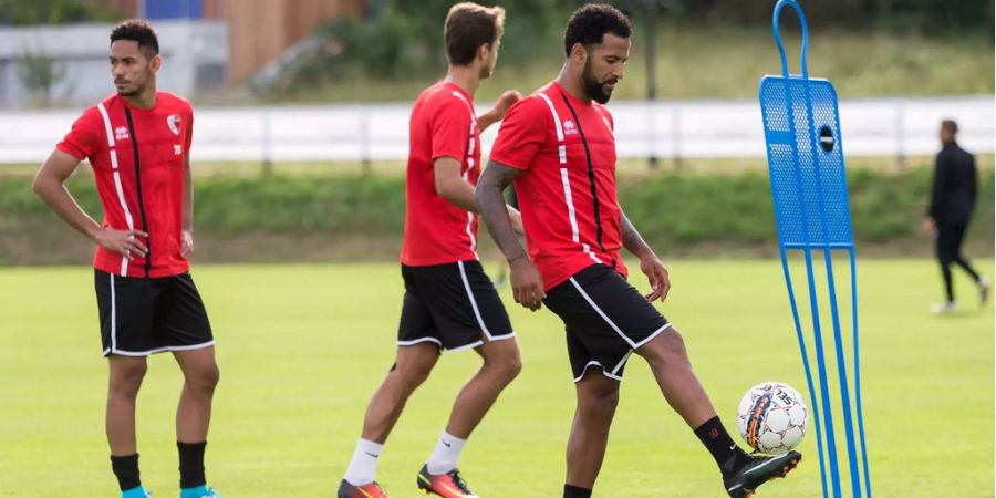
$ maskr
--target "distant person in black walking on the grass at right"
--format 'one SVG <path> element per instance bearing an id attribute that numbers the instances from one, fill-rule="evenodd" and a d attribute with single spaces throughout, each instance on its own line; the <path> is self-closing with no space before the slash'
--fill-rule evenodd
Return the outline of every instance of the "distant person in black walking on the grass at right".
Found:
<path id="1" fill-rule="evenodd" d="M 934 313 L 946 313 L 955 309 L 951 263 L 956 263 L 972 276 L 978 286 L 982 303 L 985 303 L 989 293 L 988 279 L 981 277 L 968 263 L 968 260 L 962 256 L 965 230 L 968 228 L 972 211 L 975 209 L 978 175 L 975 170 L 975 157 L 955 142 L 957 133 L 957 123 L 951 120 L 941 122 L 943 147 L 937 154 L 937 162 L 934 166 L 931 207 L 923 220 L 924 232 L 933 235 L 936 240 L 937 260 L 941 261 L 947 299 L 931 308 Z"/>

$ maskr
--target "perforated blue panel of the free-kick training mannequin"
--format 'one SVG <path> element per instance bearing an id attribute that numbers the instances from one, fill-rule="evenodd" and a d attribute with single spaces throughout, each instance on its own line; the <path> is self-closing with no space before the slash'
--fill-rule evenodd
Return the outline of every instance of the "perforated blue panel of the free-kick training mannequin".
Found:
<path id="1" fill-rule="evenodd" d="M 827 80 L 765 76 L 760 103 L 780 243 L 853 246 L 833 85 Z"/>

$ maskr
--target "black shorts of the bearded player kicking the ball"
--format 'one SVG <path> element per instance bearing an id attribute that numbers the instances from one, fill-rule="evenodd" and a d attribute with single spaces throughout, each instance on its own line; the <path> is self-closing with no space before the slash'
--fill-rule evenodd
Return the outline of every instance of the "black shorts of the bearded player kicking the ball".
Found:
<path id="1" fill-rule="evenodd" d="M 592 366 L 622 381 L 633 350 L 671 326 L 619 272 L 592 264 L 547 291 L 543 303 L 563 320 L 574 382 Z"/>

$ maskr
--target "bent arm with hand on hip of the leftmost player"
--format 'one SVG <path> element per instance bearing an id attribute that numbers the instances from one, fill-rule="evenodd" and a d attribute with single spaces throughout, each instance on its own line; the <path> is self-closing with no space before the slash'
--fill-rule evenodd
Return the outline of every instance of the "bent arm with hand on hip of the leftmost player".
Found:
<path id="1" fill-rule="evenodd" d="M 145 256 L 147 248 L 135 237 L 148 237 L 147 234 L 139 230 L 101 228 L 100 224 L 80 207 L 76 199 L 65 188 L 66 178 L 73 174 L 79 164 L 80 159 L 71 154 L 59 149 L 52 151 L 52 154 L 34 175 L 31 188 L 69 226 L 101 247 L 118 252 L 129 260 L 132 252 Z"/>

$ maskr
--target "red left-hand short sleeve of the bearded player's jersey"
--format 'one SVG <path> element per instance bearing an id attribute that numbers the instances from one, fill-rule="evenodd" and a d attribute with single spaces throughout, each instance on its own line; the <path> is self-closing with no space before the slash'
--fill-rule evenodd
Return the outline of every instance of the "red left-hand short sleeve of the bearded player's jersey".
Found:
<path id="1" fill-rule="evenodd" d="M 527 97 L 508 110 L 491 146 L 491 160 L 516 169 L 529 169 L 547 141 L 550 108 L 539 97 Z"/>

